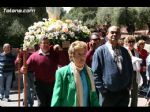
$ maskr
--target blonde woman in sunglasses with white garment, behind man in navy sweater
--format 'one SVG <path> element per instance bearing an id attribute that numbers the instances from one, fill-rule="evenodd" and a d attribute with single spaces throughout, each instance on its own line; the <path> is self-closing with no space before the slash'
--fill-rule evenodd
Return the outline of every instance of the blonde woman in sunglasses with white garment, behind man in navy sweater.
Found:
<path id="1" fill-rule="evenodd" d="M 135 49 L 135 42 L 136 39 L 134 36 L 128 36 L 127 37 L 127 50 L 131 56 L 132 60 L 132 65 L 133 65 L 133 77 L 132 77 L 132 89 L 131 89 L 131 107 L 137 107 L 137 102 L 138 102 L 138 84 L 139 84 L 139 79 L 138 76 L 140 72 L 140 63 L 142 59 L 139 58 L 139 53 Z"/>

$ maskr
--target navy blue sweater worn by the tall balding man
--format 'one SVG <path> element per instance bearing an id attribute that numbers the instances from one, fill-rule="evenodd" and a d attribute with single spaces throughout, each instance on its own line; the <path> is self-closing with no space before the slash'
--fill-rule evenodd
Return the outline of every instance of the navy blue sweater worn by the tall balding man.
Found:
<path id="1" fill-rule="evenodd" d="M 130 88 L 132 83 L 132 62 L 128 51 L 119 47 L 123 62 L 122 73 L 119 72 L 117 64 L 107 47 L 107 43 L 98 47 L 92 58 L 92 70 L 96 88 L 103 92 L 106 89 L 117 92 Z"/>

